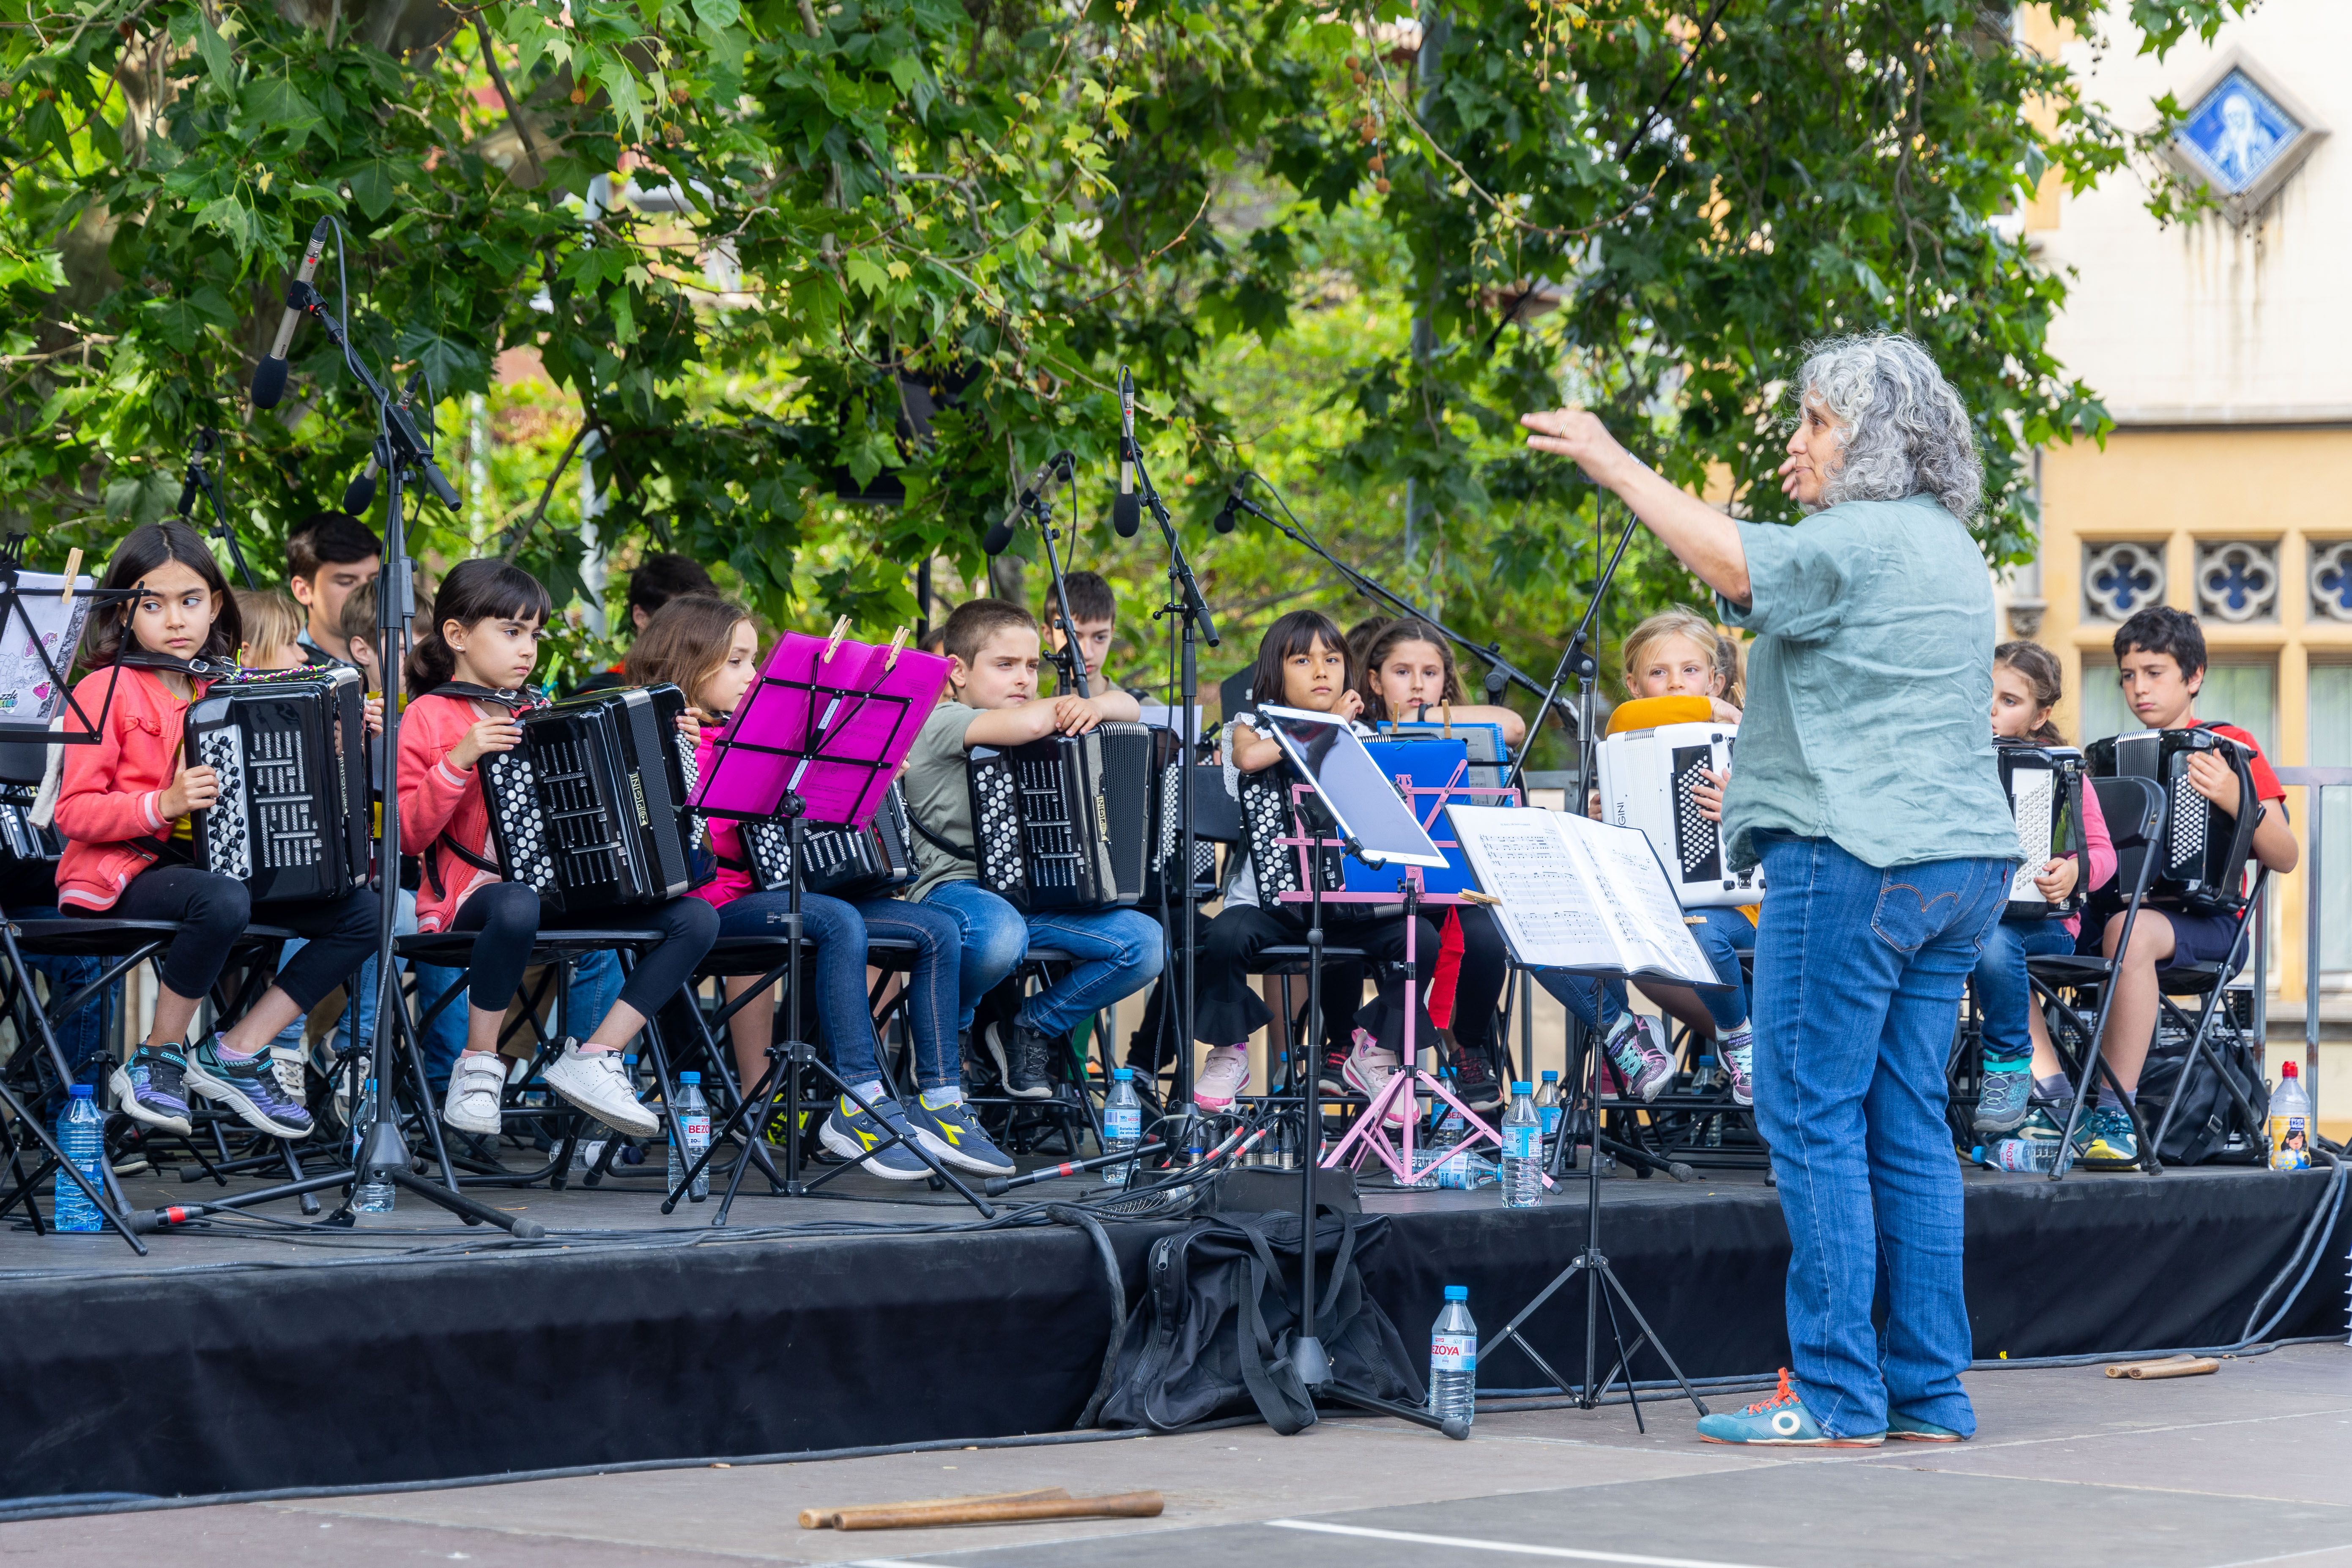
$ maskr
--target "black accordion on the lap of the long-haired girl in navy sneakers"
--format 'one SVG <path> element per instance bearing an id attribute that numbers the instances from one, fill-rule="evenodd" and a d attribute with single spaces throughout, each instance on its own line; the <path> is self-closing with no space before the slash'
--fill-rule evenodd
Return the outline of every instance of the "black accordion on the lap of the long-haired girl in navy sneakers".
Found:
<path id="1" fill-rule="evenodd" d="M 188 823 L 198 870 L 252 900 L 339 898 L 367 882 L 372 811 L 360 672 L 230 675 L 188 705 L 188 766 L 221 795 Z"/>

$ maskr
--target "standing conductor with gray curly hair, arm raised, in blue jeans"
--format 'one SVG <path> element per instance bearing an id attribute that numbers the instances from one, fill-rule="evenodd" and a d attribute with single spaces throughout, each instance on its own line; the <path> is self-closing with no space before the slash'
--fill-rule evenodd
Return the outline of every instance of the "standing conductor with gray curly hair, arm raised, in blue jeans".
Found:
<path id="1" fill-rule="evenodd" d="M 1957 1443 L 1976 1413 L 1943 1067 L 2018 856 L 1985 722 L 1992 576 L 1966 529 L 1983 491 L 1969 411 L 1907 336 L 1816 346 L 1780 463 L 1809 512 L 1795 527 L 1686 496 L 1583 409 L 1522 423 L 1755 635 L 1724 832 L 1733 865 L 1764 865 L 1755 1107 L 1792 1248 L 1795 1375 L 1698 1434 Z"/>

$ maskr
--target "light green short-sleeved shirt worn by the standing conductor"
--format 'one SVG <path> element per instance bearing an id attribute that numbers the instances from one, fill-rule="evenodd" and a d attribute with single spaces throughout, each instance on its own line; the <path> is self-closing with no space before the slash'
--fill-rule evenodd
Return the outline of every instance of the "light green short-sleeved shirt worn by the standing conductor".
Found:
<path id="1" fill-rule="evenodd" d="M 2018 858 L 1992 762 L 1992 574 L 1933 496 L 1743 522 L 1755 632 L 1724 830 L 1832 839 L 1879 870 Z"/>

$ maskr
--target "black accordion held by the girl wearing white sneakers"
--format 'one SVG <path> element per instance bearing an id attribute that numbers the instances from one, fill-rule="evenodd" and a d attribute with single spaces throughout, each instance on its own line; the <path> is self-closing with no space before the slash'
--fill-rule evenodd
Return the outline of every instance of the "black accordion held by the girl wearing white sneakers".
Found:
<path id="1" fill-rule="evenodd" d="M 515 715 L 522 745 L 482 757 L 489 839 L 550 910 L 668 903 L 694 886 L 694 743 L 677 686 L 593 691 Z"/>

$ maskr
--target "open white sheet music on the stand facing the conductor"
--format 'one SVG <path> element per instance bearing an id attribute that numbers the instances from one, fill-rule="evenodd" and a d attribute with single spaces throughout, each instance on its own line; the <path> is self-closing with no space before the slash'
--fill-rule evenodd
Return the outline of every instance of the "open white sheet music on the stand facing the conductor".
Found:
<path id="1" fill-rule="evenodd" d="M 1642 830 L 1541 806 L 1446 806 L 1446 820 L 1529 969 L 1719 985 Z"/>

